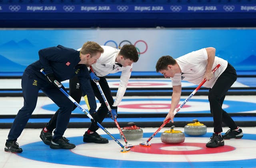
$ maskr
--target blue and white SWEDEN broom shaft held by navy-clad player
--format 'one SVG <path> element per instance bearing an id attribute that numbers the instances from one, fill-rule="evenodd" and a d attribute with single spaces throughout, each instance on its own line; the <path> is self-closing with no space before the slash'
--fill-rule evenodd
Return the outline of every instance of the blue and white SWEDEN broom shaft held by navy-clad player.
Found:
<path id="1" fill-rule="evenodd" d="M 44 75 L 46 75 L 46 73 L 44 72 L 43 69 L 40 70 Z M 64 91 L 64 89 L 62 89 L 60 87 L 60 91 L 66 95 L 66 97 L 68 97 L 68 99 L 70 99 L 80 110 L 82 110 L 90 119 L 93 119 L 92 116 L 90 115 L 90 113 L 88 111 L 86 111 L 84 108 L 82 108 L 82 106 L 80 106 L 79 103 L 77 103 L 66 91 Z M 112 136 L 112 134 L 110 134 L 102 125 L 100 125 L 100 123 L 97 122 L 97 125 L 104 130 L 104 132 L 106 132 L 114 141 L 116 141 L 122 148 L 125 148 L 125 146 L 123 144 L 121 144 L 114 136 Z"/>

